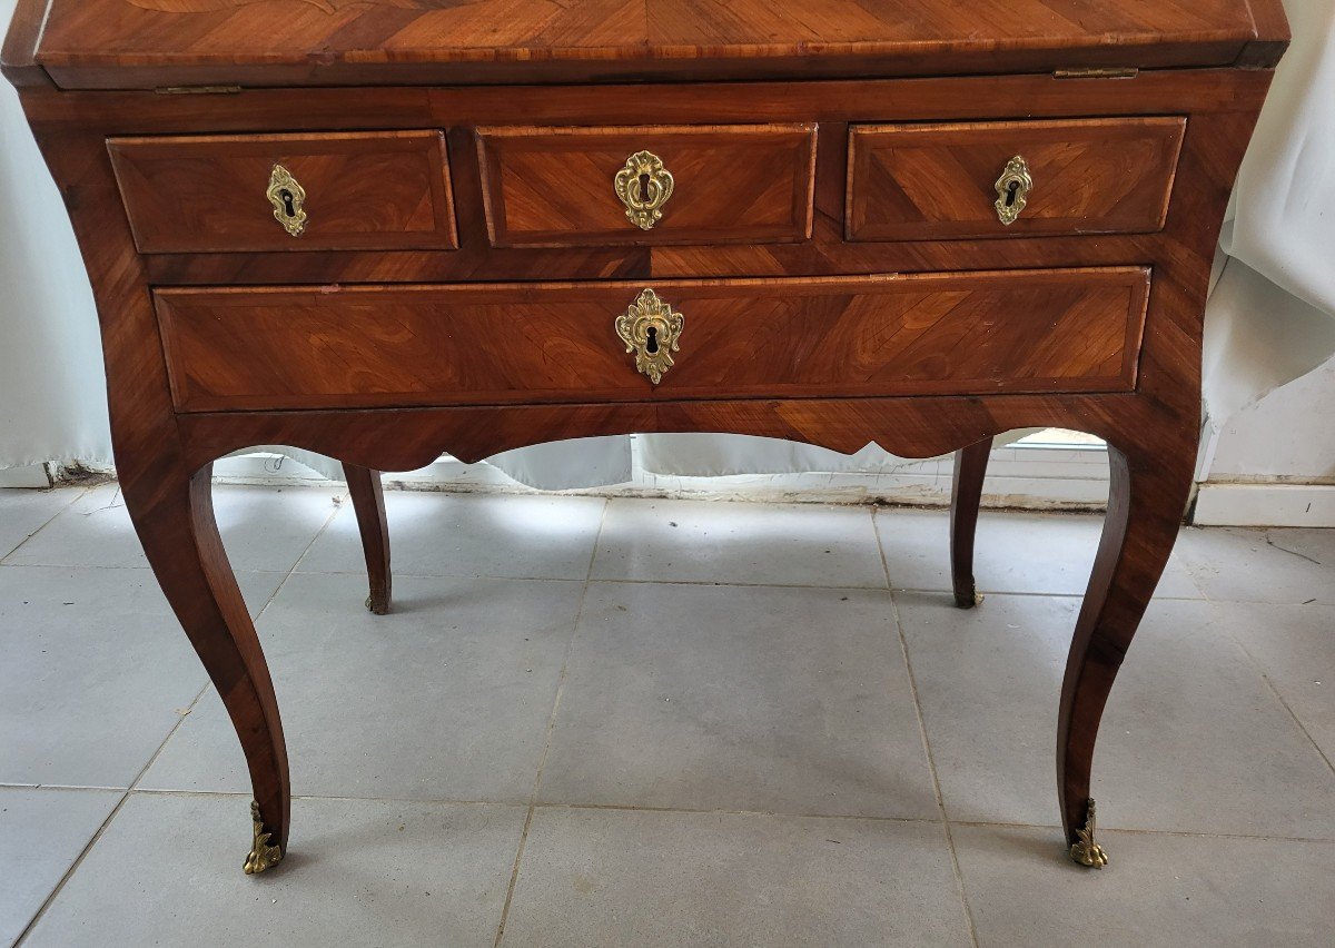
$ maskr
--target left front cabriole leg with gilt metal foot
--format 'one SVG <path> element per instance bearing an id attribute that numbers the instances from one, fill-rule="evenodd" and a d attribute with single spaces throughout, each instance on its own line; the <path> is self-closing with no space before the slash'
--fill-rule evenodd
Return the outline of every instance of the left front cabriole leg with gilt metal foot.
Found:
<path id="1" fill-rule="evenodd" d="M 212 465 L 194 475 L 123 471 L 121 486 L 158 582 L 242 741 L 255 793 L 244 869 L 254 873 L 275 865 L 287 851 L 287 748 L 268 665 L 218 535 L 211 475 Z"/>

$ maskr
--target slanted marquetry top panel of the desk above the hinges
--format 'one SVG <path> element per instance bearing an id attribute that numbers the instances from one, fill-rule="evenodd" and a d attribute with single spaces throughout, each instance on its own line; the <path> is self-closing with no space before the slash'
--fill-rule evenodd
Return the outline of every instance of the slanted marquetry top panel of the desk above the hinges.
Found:
<path id="1" fill-rule="evenodd" d="M 21 0 L 16 23 L 47 3 L 35 60 L 71 88 L 1223 65 L 1283 24 L 1278 0 Z"/>

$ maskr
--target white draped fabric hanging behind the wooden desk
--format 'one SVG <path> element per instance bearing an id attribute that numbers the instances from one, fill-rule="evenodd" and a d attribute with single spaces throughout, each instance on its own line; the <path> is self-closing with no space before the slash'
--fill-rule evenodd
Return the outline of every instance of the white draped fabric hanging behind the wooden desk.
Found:
<path id="1" fill-rule="evenodd" d="M 8 21 L 13 0 L 0 0 Z M 1335 0 L 1286 0 L 1294 44 L 1243 163 L 1206 314 L 1208 423 L 1335 352 Z M 59 195 L 7 84 L 0 89 L 0 467 L 107 463 L 104 379 L 92 295 Z M 336 477 L 304 451 L 280 450 Z M 629 481 L 629 438 L 585 438 L 490 459 L 525 483 Z M 870 471 L 897 459 L 740 435 L 647 435 L 659 474 Z"/>

